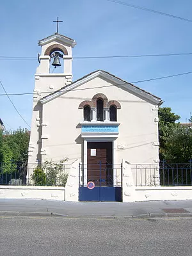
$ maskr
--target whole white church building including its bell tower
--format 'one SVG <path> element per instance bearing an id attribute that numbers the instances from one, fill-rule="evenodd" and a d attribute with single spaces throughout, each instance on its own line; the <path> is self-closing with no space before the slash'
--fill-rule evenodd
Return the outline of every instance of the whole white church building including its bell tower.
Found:
<path id="1" fill-rule="evenodd" d="M 122 159 L 159 163 L 159 97 L 104 70 L 73 81 L 76 42 L 67 36 L 55 33 L 38 45 L 28 164 L 68 157 L 80 164 L 83 187 L 115 188 Z M 63 72 L 52 73 L 52 61 L 61 59 Z"/>

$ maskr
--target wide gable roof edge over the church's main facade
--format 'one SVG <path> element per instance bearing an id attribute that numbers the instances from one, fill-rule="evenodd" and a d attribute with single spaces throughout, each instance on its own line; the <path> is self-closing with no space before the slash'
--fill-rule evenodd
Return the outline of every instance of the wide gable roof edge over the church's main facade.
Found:
<path id="1" fill-rule="evenodd" d="M 153 95 L 152 93 L 146 92 L 145 90 L 139 88 L 138 86 L 128 83 L 127 81 L 124 81 L 123 79 L 116 77 L 104 70 L 96 70 L 94 72 L 91 72 L 90 74 L 87 74 L 86 76 L 83 76 L 83 77 L 77 79 L 73 83 L 68 84 L 67 86 L 61 87 L 60 90 L 57 90 L 57 91 L 43 97 L 42 99 L 40 99 L 40 102 L 42 104 L 45 104 L 45 103 L 49 102 L 50 100 L 56 99 L 60 95 L 63 95 L 64 93 L 67 93 L 70 90 L 73 90 L 77 86 L 80 86 L 81 84 L 84 84 L 84 83 L 94 79 L 95 77 L 103 77 L 105 79 L 108 79 L 109 81 L 111 81 L 111 83 L 115 84 L 114 86 L 120 86 L 122 88 L 125 88 L 127 91 L 137 95 L 138 97 L 142 97 L 143 99 L 150 101 L 153 104 L 156 104 L 158 106 L 160 106 L 163 103 L 163 100 L 161 100 L 161 98 Z M 102 88 L 102 87 L 98 86 L 98 88 Z"/>

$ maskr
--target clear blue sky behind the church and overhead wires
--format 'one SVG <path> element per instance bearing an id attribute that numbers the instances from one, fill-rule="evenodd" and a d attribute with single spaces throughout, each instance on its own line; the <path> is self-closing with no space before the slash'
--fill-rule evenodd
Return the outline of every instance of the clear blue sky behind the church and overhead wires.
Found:
<path id="1" fill-rule="evenodd" d="M 192 19 L 191 0 L 122 0 Z M 52 20 L 63 20 L 59 33 L 76 40 L 75 56 L 109 56 L 192 52 L 192 22 L 172 19 L 107 0 L 1 1 L 0 56 L 36 57 L 38 40 L 56 32 Z M 192 71 L 192 55 L 73 61 L 74 80 L 103 69 L 128 82 Z M 8 93 L 33 92 L 37 60 L 0 58 L 0 80 Z M 186 122 L 192 111 L 192 74 L 136 86 L 161 97 L 164 107 Z M 0 94 L 4 93 L 0 87 Z M 11 97 L 31 124 L 33 95 Z M 0 96 L 0 118 L 6 129 L 27 127 L 6 96 Z M 27 127 L 28 128 L 28 127 Z"/>

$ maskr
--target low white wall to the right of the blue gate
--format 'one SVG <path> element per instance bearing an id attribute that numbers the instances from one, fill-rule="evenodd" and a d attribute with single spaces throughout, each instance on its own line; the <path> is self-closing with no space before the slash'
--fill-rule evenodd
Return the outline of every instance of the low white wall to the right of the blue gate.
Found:
<path id="1" fill-rule="evenodd" d="M 136 201 L 192 200 L 192 187 L 135 187 Z"/>

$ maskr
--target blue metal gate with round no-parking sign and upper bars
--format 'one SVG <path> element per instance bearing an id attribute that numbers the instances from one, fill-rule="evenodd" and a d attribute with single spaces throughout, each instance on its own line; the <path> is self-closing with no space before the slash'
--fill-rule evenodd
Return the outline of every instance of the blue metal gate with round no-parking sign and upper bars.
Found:
<path id="1" fill-rule="evenodd" d="M 121 202 L 122 164 L 79 164 L 79 201 Z"/>

